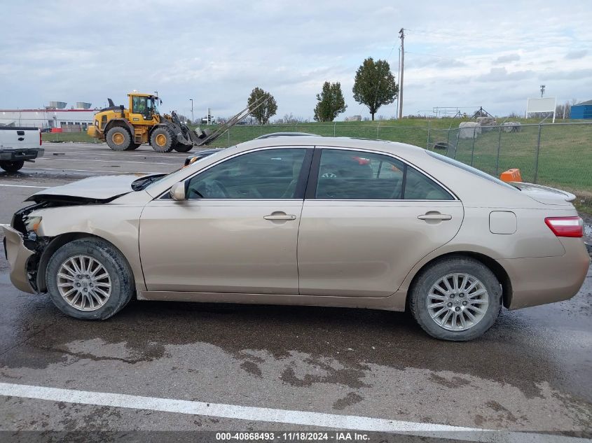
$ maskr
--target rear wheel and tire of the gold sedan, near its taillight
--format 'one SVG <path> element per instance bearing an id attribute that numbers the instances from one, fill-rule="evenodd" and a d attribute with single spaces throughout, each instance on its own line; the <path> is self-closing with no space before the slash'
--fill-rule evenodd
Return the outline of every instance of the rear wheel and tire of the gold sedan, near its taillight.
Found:
<path id="1" fill-rule="evenodd" d="M 409 297 L 413 318 L 437 339 L 465 342 L 491 328 L 502 307 L 500 282 L 474 258 L 453 256 L 418 276 Z"/>

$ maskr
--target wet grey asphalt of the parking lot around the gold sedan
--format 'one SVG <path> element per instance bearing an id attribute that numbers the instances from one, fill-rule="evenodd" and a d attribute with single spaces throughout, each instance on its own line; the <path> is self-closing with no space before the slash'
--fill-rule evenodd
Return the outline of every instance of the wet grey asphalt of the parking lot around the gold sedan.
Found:
<path id="1" fill-rule="evenodd" d="M 0 223 L 40 189 L 28 187 L 172 171 L 186 157 L 44 147 L 20 173 L 0 173 Z M 588 272 L 572 300 L 504 309 L 468 343 L 431 339 L 405 313 L 364 309 L 132 302 L 84 322 L 13 288 L 3 255 L 0 382 L 589 438 L 591 295 Z M 0 396 L 0 430 L 303 428 Z"/>

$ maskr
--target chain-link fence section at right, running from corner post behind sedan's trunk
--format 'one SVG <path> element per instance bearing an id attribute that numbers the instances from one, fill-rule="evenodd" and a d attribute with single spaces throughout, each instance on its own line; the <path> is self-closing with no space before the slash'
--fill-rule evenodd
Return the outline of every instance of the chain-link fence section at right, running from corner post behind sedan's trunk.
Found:
<path id="1" fill-rule="evenodd" d="M 493 176 L 518 168 L 523 181 L 573 192 L 592 212 L 592 124 L 432 129 L 427 148 Z"/>

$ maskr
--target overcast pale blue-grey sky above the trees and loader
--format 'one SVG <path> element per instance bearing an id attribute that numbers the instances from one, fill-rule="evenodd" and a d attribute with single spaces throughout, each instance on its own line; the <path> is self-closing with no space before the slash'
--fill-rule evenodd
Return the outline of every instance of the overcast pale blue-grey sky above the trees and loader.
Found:
<path id="1" fill-rule="evenodd" d="M 527 97 L 592 99 L 592 1 L 10 1 L 0 15 L 0 108 L 158 90 L 163 110 L 195 118 L 240 111 L 255 86 L 276 118 L 312 120 L 315 94 L 339 81 L 347 111 L 365 57 L 398 81 L 406 29 L 404 115 L 434 106 L 523 113 Z M 377 115 L 396 115 L 395 104 Z"/>

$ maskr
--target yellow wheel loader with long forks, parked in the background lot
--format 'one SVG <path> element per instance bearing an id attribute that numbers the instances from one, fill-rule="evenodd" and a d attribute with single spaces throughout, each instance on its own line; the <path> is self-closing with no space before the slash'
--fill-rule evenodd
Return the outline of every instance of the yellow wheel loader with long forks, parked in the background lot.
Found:
<path id="1" fill-rule="evenodd" d="M 128 108 L 123 104 L 116 106 L 113 100 L 108 99 L 109 107 L 95 114 L 95 122 L 88 127 L 87 134 L 106 141 L 113 150 L 133 150 L 142 143 L 150 143 L 153 150 L 159 153 L 168 153 L 173 149 L 186 153 L 193 146 L 209 145 L 266 101 L 261 99 L 250 108 L 247 106 L 209 133 L 201 129 L 192 131 L 174 111 L 170 115 L 161 115 L 158 104 L 162 104 L 162 101 L 156 95 L 131 92 L 128 97 Z"/>

